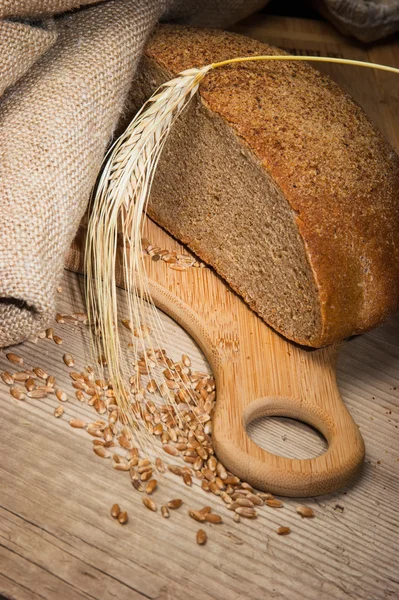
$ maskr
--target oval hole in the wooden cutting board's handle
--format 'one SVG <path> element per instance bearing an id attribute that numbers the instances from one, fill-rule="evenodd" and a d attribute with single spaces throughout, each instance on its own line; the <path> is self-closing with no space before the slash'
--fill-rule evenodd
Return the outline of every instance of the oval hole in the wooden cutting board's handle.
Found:
<path id="1" fill-rule="evenodd" d="M 249 422 L 246 430 L 257 446 L 285 458 L 314 458 L 328 448 L 318 429 L 298 419 L 260 417 Z"/>

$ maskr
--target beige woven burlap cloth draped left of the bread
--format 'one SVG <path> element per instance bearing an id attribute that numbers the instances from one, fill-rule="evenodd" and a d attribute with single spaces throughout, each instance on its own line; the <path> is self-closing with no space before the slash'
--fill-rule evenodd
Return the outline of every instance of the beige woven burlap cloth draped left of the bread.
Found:
<path id="1" fill-rule="evenodd" d="M 266 1 L 0 0 L 0 347 L 54 315 L 65 254 L 156 22 L 223 26 Z M 38 15 L 54 19 L 25 21 Z"/>

